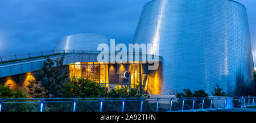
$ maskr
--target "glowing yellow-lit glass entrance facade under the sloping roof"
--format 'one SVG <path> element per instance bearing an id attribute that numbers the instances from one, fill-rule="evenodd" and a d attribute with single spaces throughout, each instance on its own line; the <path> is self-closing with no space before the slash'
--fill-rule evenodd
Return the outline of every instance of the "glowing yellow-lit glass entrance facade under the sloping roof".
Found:
<path id="1" fill-rule="evenodd" d="M 144 72 L 146 71 L 146 72 Z M 125 78 L 124 73 L 129 73 Z M 69 64 L 69 77 L 82 77 L 102 84 L 109 90 L 129 87 L 129 90 L 142 86 L 148 90 L 149 70 L 143 69 L 142 63 L 109 64 L 98 62 L 76 62 Z"/>

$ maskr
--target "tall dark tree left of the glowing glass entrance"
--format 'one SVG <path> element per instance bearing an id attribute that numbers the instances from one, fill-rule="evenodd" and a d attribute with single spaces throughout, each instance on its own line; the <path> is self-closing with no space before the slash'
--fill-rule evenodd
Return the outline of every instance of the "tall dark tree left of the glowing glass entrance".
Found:
<path id="1" fill-rule="evenodd" d="M 60 97 L 60 88 L 68 78 L 67 71 L 61 70 L 64 68 L 63 61 L 64 56 L 56 60 L 47 57 L 42 72 L 35 75 L 35 79 L 28 80 L 27 88 L 30 90 L 28 94 L 41 98 Z"/>

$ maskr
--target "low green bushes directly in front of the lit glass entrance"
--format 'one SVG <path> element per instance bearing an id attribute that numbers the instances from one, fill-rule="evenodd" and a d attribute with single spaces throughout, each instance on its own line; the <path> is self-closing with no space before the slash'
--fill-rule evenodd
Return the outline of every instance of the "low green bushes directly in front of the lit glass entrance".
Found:
<path id="1" fill-rule="evenodd" d="M 111 90 L 89 79 L 73 77 L 61 88 L 61 97 L 147 97 L 141 86 L 129 91 L 129 87 Z"/>

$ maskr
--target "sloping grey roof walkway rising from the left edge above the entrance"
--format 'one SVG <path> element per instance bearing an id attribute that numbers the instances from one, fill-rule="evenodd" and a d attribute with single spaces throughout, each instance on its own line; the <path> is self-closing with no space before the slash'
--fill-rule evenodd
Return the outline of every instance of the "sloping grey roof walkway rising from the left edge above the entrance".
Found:
<path id="1" fill-rule="evenodd" d="M 85 50 L 49 50 L 46 52 L 18 54 L 13 56 L 0 57 L 0 78 L 8 77 L 11 75 L 28 73 L 31 71 L 41 70 L 46 57 L 56 59 L 64 56 L 64 65 L 76 62 L 98 62 L 97 56 L 100 51 L 85 51 Z M 108 53 L 109 57 L 110 54 Z M 117 55 L 117 53 L 114 53 Z M 127 62 L 129 61 L 129 53 L 127 53 Z M 141 62 L 143 56 L 146 54 L 133 54 L 133 62 Z M 135 56 L 139 56 L 139 61 L 135 61 Z M 153 56 L 156 57 L 156 56 Z M 111 60 L 109 58 L 109 60 Z M 162 62 L 163 58 L 159 56 L 159 62 Z M 154 61 L 147 58 L 147 61 Z M 110 61 L 112 62 L 112 61 Z M 130 62 L 130 61 L 129 61 Z"/>

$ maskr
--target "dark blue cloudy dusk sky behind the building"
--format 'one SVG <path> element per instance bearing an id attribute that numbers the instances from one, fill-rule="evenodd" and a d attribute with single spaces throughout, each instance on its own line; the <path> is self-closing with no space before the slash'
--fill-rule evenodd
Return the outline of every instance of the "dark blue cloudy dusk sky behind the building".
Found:
<path id="1" fill-rule="evenodd" d="M 0 0 L 0 56 L 55 49 L 74 33 L 131 42 L 143 6 L 151 0 Z M 256 65 L 256 1 L 247 8 Z"/>

